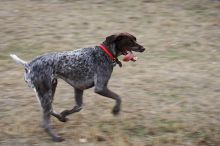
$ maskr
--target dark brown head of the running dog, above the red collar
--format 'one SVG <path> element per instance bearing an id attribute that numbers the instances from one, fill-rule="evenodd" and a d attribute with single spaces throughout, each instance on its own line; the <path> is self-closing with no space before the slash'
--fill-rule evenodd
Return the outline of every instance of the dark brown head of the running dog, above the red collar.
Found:
<path id="1" fill-rule="evenodd" d="M 138 44 L 136 37 L 129 33 L 113 34 L 106 37 L 104 44 L 109 47 L 112 53 L 118 57 L 120 55 L 132 54 L 135 52 L 144 52 L 145 48 Z"/>

